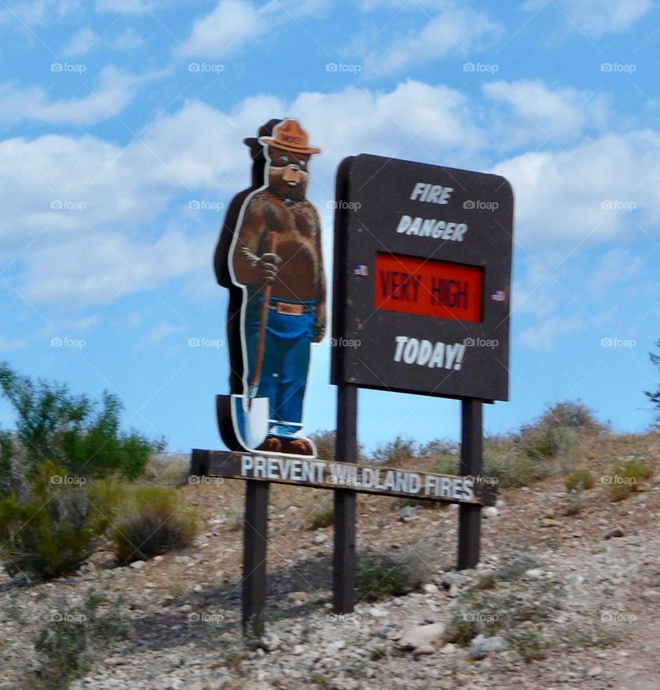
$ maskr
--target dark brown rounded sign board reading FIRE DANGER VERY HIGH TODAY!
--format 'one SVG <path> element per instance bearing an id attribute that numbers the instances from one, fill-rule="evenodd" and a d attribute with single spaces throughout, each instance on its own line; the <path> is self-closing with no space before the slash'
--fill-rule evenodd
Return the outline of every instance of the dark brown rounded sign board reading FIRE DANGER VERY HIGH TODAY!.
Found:
<path id="1" fill-rule="evenodd" d="M 508 400 L 509 183 L 360 155 L 336 209 L 333 383 Z"/>

